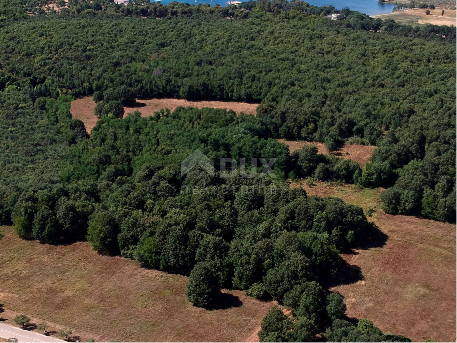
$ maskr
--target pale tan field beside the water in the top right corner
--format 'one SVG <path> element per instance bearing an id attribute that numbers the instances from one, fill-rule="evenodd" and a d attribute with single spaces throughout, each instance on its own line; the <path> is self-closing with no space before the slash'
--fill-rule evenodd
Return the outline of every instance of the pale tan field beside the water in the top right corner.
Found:
<path id="1" fill-rule="evenodd" d="M 447 25 L 456 26 L 456 10 L 444 9 L 444 15 L 441 16 L 441 8 L 429 10 L 430 14 L 425 14 L 425 9 L 409 8 L 406 10 L 396 11 L 388 14 L 373 16 L 377 18 L 393 19 L 405 24 L 418 23 L 418 24 L 434 24 L 434 25 Z"/>

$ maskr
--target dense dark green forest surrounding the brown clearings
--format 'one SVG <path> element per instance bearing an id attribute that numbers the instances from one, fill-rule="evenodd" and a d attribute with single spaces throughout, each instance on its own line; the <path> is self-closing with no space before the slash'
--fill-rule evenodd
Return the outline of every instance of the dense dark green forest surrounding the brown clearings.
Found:
<path id="1" fill-rule="evenodd" d="M 292 319 L 273 308 L 262 341 L 408 341 L 355 325 L 326 290 L 341 281 L 340 253 L 376 241 L 377 228 L 360 207 L 308 197 L 287 180 L 385 187 L 387 213 L 455 221 L 455 28 L 347 9 L 332 21 L 335 8 L 301 1 L 37 5 L 0 3 L 2 223 L 25 239 L 87 239 L 98 252 L 189 275 L 197 306 L 218 308 L 221 288 L 278 300 Z M 85 95 L 100 118 L 90 137 L 69 112 Z M 165 96 L 260 106 L 256 117 L 124 113 L 136 97 Z M 277 138 L 377 149 L 360 168 L 313 146 L 290 155 Z M 181 173 L 196 150 L 214 173 Z M 227 177 L 221 158 L 274 159 L 274 175 L 248 162 Z"/>

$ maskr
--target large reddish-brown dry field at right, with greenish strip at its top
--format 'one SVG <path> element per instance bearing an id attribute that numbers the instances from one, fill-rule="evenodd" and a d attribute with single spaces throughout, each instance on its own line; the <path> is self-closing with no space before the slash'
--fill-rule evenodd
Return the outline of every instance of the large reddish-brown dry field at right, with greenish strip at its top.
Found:
<path id="1" fill-rule="evenodd" d="M 385 214 L 382 189 L 303 182 L 308 195 L 342 198 L 361 206 L 388 236 L 383 247 L 354 249 L 344 259 L 363 279 L 339 285 L 346 314 L 369 318 L 383 332 L 413 341 L 456 341 L 456 226 L 412 216 Z"/>

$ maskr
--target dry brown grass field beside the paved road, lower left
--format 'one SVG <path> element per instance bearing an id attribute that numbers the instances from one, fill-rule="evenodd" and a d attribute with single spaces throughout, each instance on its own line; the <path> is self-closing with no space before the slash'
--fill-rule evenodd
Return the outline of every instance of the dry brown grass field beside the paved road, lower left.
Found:
<path id="1" fill-rule="evenodd" d="M 225 290 L 242 304 L 207 311 L 187 301 L 184 276 L 98 255 L 86 242 L 40 244 L 19 239 L 11 227 L 2 228 L 0 297 L 5 312 L 58 323 L 54 325 L 69 327 L 73 334 L 78 316 L 82 342 L 242 342 L 274 305 Z"/>

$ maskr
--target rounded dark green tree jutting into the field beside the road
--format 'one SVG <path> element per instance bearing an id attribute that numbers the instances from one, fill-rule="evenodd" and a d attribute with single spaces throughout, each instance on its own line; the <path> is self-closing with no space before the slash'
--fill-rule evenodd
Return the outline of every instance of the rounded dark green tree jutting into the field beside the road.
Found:
<path id="1" fill-rule="evenodd" d="M 210 262 L 199 262 L 191 271 L 186 288 L 187 300 L 194 306 L 210 307 L 220 289 Z"/>

